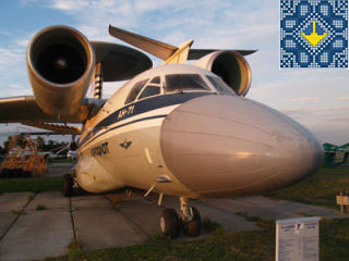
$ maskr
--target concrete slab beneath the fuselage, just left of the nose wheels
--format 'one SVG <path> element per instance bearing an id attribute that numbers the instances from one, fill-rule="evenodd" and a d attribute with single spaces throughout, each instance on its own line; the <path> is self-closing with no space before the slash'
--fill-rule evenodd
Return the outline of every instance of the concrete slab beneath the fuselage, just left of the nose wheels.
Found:
<path id="1" fill-rule="evenodd" d="M 76 239 L 84 249 L 142 244 L 147 236 L 105 196 L 72 198 Z"/>

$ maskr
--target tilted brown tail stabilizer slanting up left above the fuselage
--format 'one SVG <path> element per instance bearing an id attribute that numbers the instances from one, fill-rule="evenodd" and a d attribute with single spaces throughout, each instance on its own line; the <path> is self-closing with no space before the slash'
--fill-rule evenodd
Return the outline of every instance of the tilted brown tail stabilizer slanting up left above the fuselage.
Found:
<path id="1" fill-rule="evenodd" d="M 152 38 L 141 36 L 109 25 L 109 34 L 122 41 L 144 50 L 164 61 L 170 58 L 178 48 Z"/>

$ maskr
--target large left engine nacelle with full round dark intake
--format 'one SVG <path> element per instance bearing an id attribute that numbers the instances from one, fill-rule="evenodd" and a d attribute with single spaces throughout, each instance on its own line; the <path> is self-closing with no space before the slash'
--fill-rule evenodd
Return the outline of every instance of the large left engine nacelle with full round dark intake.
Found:
<path id="1" fill-rule="evenodd" d="M 27 47 L 26 63 L 44 112 L 58 117 L 77 112 L 95 65 L 94 49 L 83 34 L 68 26 L 41 29 Z"/>

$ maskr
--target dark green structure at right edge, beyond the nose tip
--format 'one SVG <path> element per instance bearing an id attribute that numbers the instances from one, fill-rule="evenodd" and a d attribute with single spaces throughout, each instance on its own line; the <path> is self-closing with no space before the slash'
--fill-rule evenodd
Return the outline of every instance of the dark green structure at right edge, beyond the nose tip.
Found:
<path id="1" fill-rule="evenodd" d="M 349 157 L 349 142 L 342 146 L 333 144 L 323 144 L 325 159 L 324 165 L 337 166 L 347 162 Z"/>

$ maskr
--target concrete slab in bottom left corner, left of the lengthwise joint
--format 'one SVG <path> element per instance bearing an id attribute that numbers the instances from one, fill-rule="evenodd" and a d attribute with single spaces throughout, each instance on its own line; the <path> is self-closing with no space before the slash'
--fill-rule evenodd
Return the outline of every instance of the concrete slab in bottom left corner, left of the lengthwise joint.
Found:
<path id="1" fill-rule="evenodd" d="M 0 197 L 11 198 L 11 194 Z M 0 241 L 0 260 L 35 260 L 65 254 L 73 240 L 69 199 L 60 192 L 43 192 L 34 200 L 27 198 L 24 212 L 12 212 L 15 220 Z M 3 200 L 3 199 L 2 199 Z M 36 210 L 41 206 L 45 210 Z"/>

